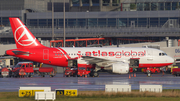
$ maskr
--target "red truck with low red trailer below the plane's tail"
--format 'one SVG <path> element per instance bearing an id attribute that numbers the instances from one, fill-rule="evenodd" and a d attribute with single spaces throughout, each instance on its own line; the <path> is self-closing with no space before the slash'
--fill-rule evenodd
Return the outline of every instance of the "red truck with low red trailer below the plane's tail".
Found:
<path id="1" fill-rule="evenodd" d="M 32 77 L 34 73 L 37 72 L 42 77 L 49 75 L 53 77 L 55 71 L 53 67 L 39 67 L 33 68 L 33 62 L 19 62 L 12 70 L 13 77 Z"/>

